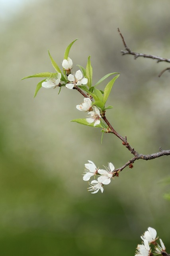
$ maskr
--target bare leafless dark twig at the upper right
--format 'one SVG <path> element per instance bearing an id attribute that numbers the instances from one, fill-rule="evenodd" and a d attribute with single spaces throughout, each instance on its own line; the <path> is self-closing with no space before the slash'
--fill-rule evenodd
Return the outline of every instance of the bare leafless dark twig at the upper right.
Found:
<path id="1" fill-rule="evenodd" d="M 135 60 L 138 57 L 143 57 L 143 58 L 150 58 L 150 59 L 153 59 L 153 60 L 157 60 L 157 62 L 169 62 L 170 63 L 170 59 L 167 59 L 167 58 L 162 58 L 162 57 L 155 56 L 155 55 L 152 55 L 152 54 L 145 54 L 145 53 L 139 53 L 139 52 L 131 51 L 131 49 L 127 46 L 127 44 L 125 42 L 125 38 L 121 34 L 119 28 L 117 28 L 117 30 L 118 30 L 118 32 L 119 32 L 119 34 L 121 36 L 121 39 L 123 41 L 123 44 L 124 44 L 125 50 L 126 50 L 126 51 L 121 50 L 122 55 L 125 55 L 125 54 L 134 55 Z M 160 74 L 158 76 L 160 77 L 166 70 L 170 71 L 170 68 L 166 68 L 166 69 L 162 70 L 162 72 L 160 72 Z"/>

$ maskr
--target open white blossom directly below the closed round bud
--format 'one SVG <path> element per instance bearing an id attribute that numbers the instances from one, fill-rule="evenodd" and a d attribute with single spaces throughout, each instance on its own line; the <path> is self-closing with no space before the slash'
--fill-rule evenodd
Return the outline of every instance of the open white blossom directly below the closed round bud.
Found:
<path id="1" fill-rule="evenodd" d="M 66 84 L 66 87 L 68 89 L 72 89 L 74 86 L 87 84 L 88 79 L 83 78 L 82 72 L 80 70 L 78 70 L 78 71 L 76 71 L 76 74 L 74 74 L 74 76 L 72 74 L 69 74 L 68 81 L 69 81 L 69 83 Z"/>

